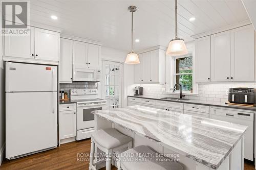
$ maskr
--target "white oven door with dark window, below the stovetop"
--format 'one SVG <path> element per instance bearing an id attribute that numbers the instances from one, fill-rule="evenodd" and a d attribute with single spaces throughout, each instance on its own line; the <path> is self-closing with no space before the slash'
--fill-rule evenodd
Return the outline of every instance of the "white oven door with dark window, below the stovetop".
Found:
<path id="1" fill-rule="evenodd" d="M 94 127 L 94 110 L 106 109 L 105 103 L 77 104 L 76 130 Z"/>

